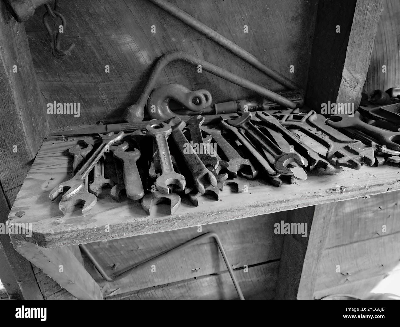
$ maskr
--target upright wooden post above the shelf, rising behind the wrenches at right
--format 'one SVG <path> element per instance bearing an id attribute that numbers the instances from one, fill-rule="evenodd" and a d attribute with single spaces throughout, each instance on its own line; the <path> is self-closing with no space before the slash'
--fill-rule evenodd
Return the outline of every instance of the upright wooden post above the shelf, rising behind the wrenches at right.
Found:
<path id="1" fill-rule="evenodd" d="M 306 104 L 313 110 L 320 112 L 321 104 L 328 101 L 358 108 L 382 2 L 318 2 L 306 96 Z"/>

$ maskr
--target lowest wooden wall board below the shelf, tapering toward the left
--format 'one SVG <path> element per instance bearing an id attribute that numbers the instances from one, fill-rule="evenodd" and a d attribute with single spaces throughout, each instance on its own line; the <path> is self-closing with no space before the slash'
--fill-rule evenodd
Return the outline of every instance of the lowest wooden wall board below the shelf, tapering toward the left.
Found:
<path id="1" fill-rule="evenodd" d="M 245 299 L 272 299 L 275 295 L 278 262 L 235 270 L 235 277 Z M 204 276 L 106 297 L 106 299 L 238 299 L 227 271 L 216 276 Z"/>

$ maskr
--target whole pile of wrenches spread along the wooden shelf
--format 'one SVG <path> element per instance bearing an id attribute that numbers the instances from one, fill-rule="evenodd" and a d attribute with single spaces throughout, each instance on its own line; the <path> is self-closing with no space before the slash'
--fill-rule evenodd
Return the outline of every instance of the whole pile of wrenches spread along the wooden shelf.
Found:
<path id="1" fill-rule="evenodd" d="M 209 126 L 203 126 L 204 119 L 173 117 L 149 121 L 143 132 L 86 137 L 69 150 L 73 177 L 54 187 L 50 199 L 63 193 L 59 208 L 64 214 L 77 204 L 84 204 L 85 214 L 107 186 L 115 201 L 126 193 L 140 200 L 147 214 L 159 203 L 170 204 L 172 214 L 181 198 L 195 206 L 203 194 L 218 200 L 226 184 L 246 193 L 249 180 L 257 177 L 279 187 L 282 181 L 307 179 L 311 170 L 335 174 L 342 167 L 379 165 L 380 152 L 394 152 L 345 135 L 315 111 L 240 112 Z"/>

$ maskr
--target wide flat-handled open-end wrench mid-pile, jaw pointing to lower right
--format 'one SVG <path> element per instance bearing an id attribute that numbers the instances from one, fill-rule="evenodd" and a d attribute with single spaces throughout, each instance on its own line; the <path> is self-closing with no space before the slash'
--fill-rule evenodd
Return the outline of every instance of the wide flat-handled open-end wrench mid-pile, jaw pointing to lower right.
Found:
<path id="1" fill-rule="evenodd" d="M 230 143 L 225 140 L 220 130 L 203 128 L 203 131 L 211 135 L 228 159 L 227 169 L 233 174 L 233 177 L 237 177 L 239 170 L 245 171 L 246 175 L 250 175 L 251 178 L 256 177 L 258 171 L 256 168 L 254 168 L 250 160 L 242 158 L 242 156 L 238 154 L 238 152 L 230 145 Z"/>

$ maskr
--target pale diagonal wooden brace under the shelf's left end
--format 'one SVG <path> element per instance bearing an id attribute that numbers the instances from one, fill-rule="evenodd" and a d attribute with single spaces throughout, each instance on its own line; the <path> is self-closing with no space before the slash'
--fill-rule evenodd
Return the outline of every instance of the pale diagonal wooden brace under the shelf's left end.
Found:
<path id="1" fill-rule="evenodd" d="M 15 249 L 78 299 L 103 299 L 100 287 L 68 247 L 44 249 L 14 239 Z"/>

